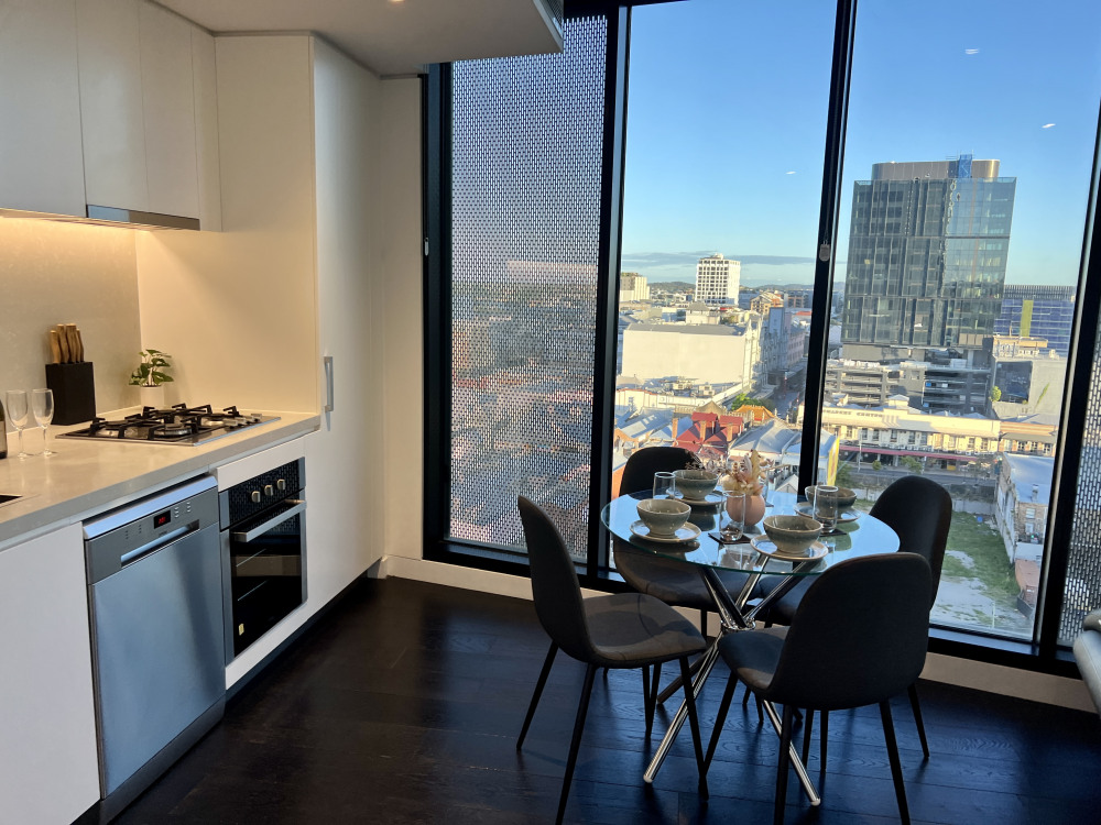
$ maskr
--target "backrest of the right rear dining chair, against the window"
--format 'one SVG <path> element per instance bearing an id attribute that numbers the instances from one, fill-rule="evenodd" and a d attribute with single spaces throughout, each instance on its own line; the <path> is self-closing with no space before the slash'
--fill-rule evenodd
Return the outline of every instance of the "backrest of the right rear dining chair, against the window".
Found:
<path id="1" fill-rule="evenodd" d="M 871 514 L 898 534 L 898 552 L 917 553 L 929 562 L 931 606 L 937 601 L 948 530 L 952 526 L 952 497 L 935 481 L 904 475 L 880 494 Z"/>

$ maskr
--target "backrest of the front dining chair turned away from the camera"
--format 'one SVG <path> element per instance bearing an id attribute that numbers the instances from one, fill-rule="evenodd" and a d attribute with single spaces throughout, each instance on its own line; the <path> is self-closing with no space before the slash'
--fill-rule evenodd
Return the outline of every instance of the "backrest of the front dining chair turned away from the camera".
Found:
<path id="1" fill-rule="evenodd" d="M 807 588 L 767 698 L 839 711 L 903 693 L 925 666 L 929 564 L 914 553 L 840 562 Z"/>

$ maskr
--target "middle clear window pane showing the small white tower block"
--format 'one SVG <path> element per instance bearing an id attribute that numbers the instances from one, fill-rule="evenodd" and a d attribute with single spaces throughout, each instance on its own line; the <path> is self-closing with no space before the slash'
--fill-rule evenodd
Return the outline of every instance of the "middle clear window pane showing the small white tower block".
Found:
<path id="1" fill-rule="evenodd" d="M 799 9 L 632 14 L 613 494 L 658 444 L 797 486 L 835 16 Z"/>

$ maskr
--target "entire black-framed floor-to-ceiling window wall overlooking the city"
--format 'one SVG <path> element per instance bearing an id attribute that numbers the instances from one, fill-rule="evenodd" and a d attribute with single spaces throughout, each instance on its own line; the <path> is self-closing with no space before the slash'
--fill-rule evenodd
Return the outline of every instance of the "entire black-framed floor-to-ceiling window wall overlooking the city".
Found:
<path id="1" fill-rule="evenodd" d="M 434 75 L 432 540 L 522 554 L 523 493 L 591 572 L 632 451 L 768 444 L 775 486 L 944 484 L 934 622 L 1066 641 L 1101 605 L 1098 444 L 1062 444 L 1094 349 L 1101 12 L 603 6 L 563 55 Z"/>

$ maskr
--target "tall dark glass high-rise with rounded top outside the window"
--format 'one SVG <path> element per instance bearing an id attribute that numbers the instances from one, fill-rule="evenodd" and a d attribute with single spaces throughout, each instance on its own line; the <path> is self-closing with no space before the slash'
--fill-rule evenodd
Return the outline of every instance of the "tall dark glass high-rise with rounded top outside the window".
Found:
<path id="1" fill-rule="evenodd" d="M 847 358 L 969 354 L 1002 308 L 1016 178 L 999 161 L 877 163 L 853 184 L 841 342 Z M 900 352 L 901 350 L 901 352 Z"/>

